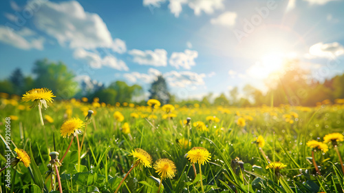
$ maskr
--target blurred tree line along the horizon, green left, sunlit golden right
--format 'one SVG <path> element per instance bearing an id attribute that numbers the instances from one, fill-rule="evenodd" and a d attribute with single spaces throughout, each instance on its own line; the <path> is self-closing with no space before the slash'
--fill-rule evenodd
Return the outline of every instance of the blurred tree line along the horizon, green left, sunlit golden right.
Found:
<path id="1" fill-rule="evenodd" d="M 162 76 L 155 78 L 149 89 L 149 99 L 158 99 L 162 104 L 178 103 L 179 105 L 222 105 L 222 106 L 259 106 L 281 104 L 313 106 L 317 102 L 344 98 L 344 74 L 338 74 L 324 82 L 316 81 L 307 70 L 299 68 L 299 61 L 288 61 L 283 74 L 271 74 L 266 83 L 266 93 L 246 85 L 242 91 L 235 87 L 227 94 L 218 96 L 209 93 L 202 100 L 186 99 L 178 100 L 169 92 L 166 80 Z M 273 81 L 272 81 L 273 80 Z M 85 96 L 88 99 L 98 97 L 100 102 L 111 105 L 117 102 L 145 104 L 144 90 L 141 85 L 128 85 L 125 81 L 114 81 L 105 86 L 94 80 L 76 81 L 76 75 L 67 68 L 65 63 L 53 62 L 47 59 L 34 63 L 32 76 L 24 76 L 20 68 L 15 69 L 10 77 L 0 80 L 0 92 L 8 94 L 24 94 L 32 88 L 50 88 L 56 93 L 58 99 L 80 99 Z M 239 93 L 244 93 L 239 97 Z M 242 95 L 242 94 L 241 94 Z"/>

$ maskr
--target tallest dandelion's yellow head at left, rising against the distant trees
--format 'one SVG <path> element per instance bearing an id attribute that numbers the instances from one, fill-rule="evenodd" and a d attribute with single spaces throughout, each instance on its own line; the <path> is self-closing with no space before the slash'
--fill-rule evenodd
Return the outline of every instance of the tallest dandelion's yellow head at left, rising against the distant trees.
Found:
<path id="1" fill-rule="evenodd" d="M 47 88 L 34 88 L 21 97 L 21 101 L 28 102 L 28 101 L 34 101 L 34 104 L 30 108 L 36 107 L 36 105 L 41 105 L 47 108 L 47 102 L 52 102 L 54 99 L 52 99 L 54 94 L 52 94 L 52 91 Z"/>

